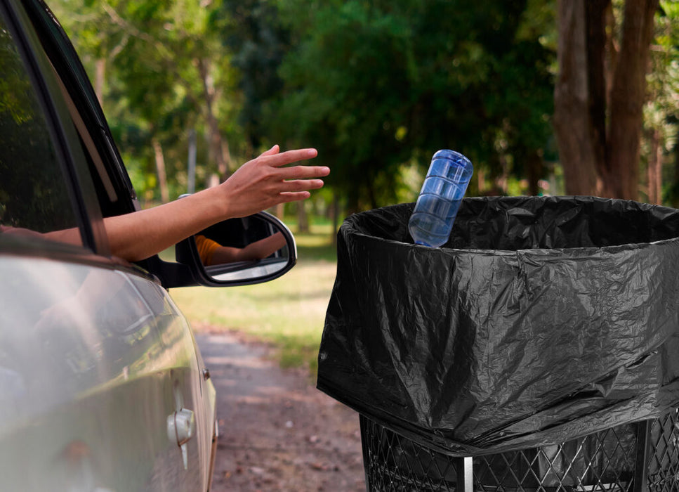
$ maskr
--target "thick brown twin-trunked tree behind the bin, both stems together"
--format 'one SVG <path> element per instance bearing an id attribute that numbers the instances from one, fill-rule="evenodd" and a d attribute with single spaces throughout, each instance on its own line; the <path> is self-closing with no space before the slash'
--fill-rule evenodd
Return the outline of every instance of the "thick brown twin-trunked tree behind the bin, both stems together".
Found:
<path id="1" fill-rule="evenodd" d="M 559 0 L 554 129 L 566 193 L 638 199 L 642 107 L 658 4 L 626 0 L 616 53 L 614 33 L 606 33 L 607 22 L 614 27 L 610 0 Z"/>

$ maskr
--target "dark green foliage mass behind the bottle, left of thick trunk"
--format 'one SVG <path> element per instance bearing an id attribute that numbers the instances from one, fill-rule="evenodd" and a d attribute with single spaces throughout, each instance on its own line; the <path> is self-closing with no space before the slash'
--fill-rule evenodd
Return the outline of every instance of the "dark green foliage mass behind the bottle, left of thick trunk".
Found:
<path id="1" fill-rule="evenodd" d="M 554 53 L 541 39 L 553 27 L 525 21 L 525 2 L 278 6 L 295 42 L 270 133 L 316 145 L 352 209 L 397 200 L 402 165 L 426 167 L 439 148 L 496 174 L 509 159 L 520 173 L 551 134 Z M 551 13 L 544 1 L 530 8 Z"/>

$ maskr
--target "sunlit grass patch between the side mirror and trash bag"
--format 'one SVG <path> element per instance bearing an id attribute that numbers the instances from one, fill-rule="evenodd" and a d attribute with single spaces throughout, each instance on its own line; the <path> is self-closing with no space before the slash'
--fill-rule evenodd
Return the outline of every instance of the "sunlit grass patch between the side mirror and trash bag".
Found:
<path id="1" fill-rule="evenodd" d="M 272 344 L 284 367 L 315 373 L 325 311 L 336 273 L 331 226 L 296 234 L 297 265 L 269 283 L 243 287 L 184 287 L 171 295 L 196 331 L 237 330 Z"/>

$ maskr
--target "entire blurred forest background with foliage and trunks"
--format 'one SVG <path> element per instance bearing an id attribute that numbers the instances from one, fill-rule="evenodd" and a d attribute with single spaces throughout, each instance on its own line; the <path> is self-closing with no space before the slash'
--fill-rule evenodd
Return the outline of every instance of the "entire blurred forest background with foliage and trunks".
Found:
<path id="1" fill-rule="evenodd" d="M 440 148 L 468 195 L 679 205 L 676 0 L 51 0 L 143 205 L 279 143 L 327 186 L 304 231 L 416 199 Z"/>

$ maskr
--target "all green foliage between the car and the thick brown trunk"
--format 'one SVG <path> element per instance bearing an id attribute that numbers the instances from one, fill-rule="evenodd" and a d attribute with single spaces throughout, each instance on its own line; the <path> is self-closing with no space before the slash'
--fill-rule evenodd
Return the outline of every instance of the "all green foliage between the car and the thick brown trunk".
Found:
<path id="1" fill-rule="evenodd" d="M 327 183 L 352 210 L 413 200 L 418 186 L 407 176 L 421 176 L 439 148 L 469 155 L 488 181 L 524 174 L 551 134 L 553 0 L 55 0 L 54 8 L 93 78 L 105 60 L 104 108 L 150 198 L 152 137 L 174 190 L 186 180 L 189 129 L 204 136 L 199 174 L 214 171 L 199 67 L 209 69 L 212 110 L 240 162 L 271 143 L 315 146 L 333 169 Z"/>

